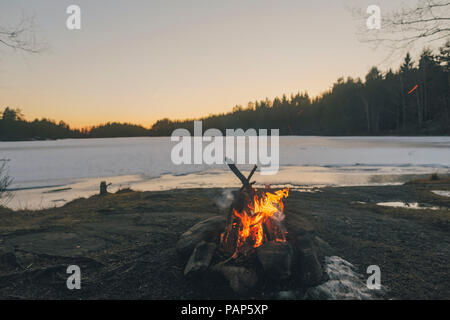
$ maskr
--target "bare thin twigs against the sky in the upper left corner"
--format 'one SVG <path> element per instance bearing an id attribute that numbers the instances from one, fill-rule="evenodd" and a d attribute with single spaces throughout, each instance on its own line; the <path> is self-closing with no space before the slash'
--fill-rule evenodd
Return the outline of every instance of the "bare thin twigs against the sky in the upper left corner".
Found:
<path id="1" fill-rule="evenodd" d="M 36 40 L 34 17 L 24 17 L 13 27 L 0 26 L 0 45 L 25 51 L 28 53 L 39 53 L 46 47 Z"/>

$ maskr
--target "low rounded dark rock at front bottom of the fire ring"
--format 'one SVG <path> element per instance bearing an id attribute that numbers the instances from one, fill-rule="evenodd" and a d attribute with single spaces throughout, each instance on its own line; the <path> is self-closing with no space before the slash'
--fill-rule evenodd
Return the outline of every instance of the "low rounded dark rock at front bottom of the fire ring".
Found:
<path id="1" fill-rule="evenodd" d="M 221 274 L 227 280 L 230 288 L 237 294 L 245 294 L 255 288 L 258 283 L 256 272 L 244 267 L 216 264 L 213 271 Z"/>

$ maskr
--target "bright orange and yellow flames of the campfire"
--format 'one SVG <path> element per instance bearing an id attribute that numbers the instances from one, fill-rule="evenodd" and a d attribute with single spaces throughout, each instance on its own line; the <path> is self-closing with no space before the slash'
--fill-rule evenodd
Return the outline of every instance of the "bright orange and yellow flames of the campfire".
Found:
<path id="1" fill-rule="evenodd" d="M 253 201 L 250 201 L 247 208 L 242 212 L 233 209 L 238 227 L 238 239 L 236 244 L 236 253 L 245 249 L 244 245 L 250 245 L 253 248 L 261 246 L 264 242 L 270 240 L 286 241 L 284 229 L 280 222 L 284 218 L 283 198 L 289 194 L 289 189 L 282 189 L 271 192 L 255 192 Z M 271 230 L 267 230 L 270 228 Z M 270 232 L 270 234 L 267 234 Z"/>

